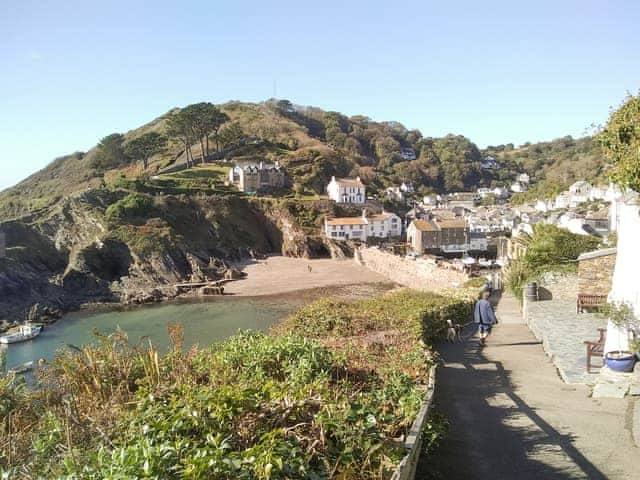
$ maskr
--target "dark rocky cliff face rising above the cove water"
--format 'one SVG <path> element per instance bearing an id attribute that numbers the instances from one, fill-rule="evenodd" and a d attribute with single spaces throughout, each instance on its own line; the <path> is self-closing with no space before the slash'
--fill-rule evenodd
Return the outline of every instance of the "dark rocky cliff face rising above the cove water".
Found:
<path id="1" fill-rule="evenodd" d="M 278 253 L 329 256 L 277 201 L 235 196 L 146 198 L 144 214 L 114 219 L 126 192 L 89 190 L 36 216 L 0 223 L 0 319 L 87 302 L 138 303 L 177 295 L 175 283 L 223 277 L 229 261 Z M 348 254 L 348 251 L 347 251 Z"/>

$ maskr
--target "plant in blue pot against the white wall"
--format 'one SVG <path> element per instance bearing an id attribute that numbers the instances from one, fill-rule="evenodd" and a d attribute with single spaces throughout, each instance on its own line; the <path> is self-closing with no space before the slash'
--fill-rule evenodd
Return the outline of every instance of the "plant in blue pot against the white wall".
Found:
<path id="1" fill-rule="evenodd" d="M 616 372 L 631 372 L 636 362 L 636 332 L 638 331 L 638 319 L 633 312 L 633 307 L 626 302 L 610 302 L 602 309 L 601 315 L 626 332 L 629 348 L 629 350 L 623 350 L 619 341 L 618 350 L 605 354 L 605 365 Z"/>

